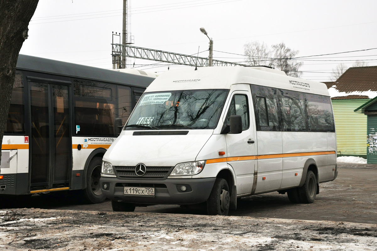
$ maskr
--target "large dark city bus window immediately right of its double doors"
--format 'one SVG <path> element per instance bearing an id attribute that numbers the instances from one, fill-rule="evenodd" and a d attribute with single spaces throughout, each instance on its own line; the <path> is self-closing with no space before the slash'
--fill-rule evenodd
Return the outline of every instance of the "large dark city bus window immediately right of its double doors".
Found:
<path id="1" fill-rule="evenodd" d="M 75 135 L 114 136 L 115 95 L 115 85 L 75 79 Z"/>

